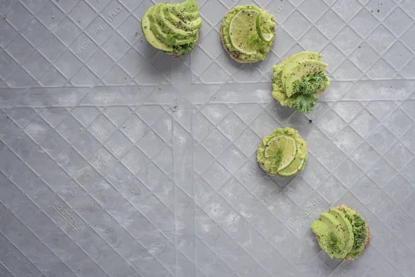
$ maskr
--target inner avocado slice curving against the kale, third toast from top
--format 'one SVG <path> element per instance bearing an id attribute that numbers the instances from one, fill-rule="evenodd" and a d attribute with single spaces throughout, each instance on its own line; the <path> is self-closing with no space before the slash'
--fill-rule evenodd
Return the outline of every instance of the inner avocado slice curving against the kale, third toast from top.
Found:
<path id="1" fill-rule="evenodd" d="M 298 62 L 286 78 L 286 96 L 289 98 L 293 96 L 293 87 L 294 82 L 301 80 L 303 76 L 308 76 L 314 72 L 321 72 L 326 69 L 329 64 L 320 62 L 320 60 L 306 60 L 303 62 Z"/>

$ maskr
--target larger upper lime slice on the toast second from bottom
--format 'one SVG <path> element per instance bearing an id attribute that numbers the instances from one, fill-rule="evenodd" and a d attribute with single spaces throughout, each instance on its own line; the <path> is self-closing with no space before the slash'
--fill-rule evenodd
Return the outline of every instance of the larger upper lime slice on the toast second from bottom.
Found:
<path id="1" fill-rule="evenodd" d="M 277 172 L 282 171 L 293 163 L 297 156 L 297 143 L 291 136 L 275 136 L 266 143 L 264 157 L 275 157 L 279 162 Z"/>

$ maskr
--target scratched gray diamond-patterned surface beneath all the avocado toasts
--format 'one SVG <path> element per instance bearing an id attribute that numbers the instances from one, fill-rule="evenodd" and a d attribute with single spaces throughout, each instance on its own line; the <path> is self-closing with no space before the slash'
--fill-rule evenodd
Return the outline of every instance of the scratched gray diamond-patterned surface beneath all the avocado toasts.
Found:
<path id="1" fill-rule="evenodd" d="M 278 35 L 243 65 L 218 32 L 252 1 L 198 2 L 174 59 L 140 31 L 154 1 L 0 0 L 0 276 L 414 276 L 415 1 L 255 0 Z M 270 96 L 303 50 L 333 79 L 308 116 Z M 255 148 L 286 126 L 308 164 L 266 177 Z M 371 227 L 355 262 L 309 229 L 337 204 Z"/>

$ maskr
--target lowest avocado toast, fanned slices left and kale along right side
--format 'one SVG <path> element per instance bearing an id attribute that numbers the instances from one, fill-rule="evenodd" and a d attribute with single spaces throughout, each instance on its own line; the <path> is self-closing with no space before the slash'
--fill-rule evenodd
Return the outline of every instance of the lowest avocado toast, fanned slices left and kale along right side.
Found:
<path id="1" fill-rule="evenodd" d="M 368 247 L 371 233 L 363 217 L 346 205 L 320 213 L 311 224 L 320 247 L 338 260 L 354 260 Z"/>

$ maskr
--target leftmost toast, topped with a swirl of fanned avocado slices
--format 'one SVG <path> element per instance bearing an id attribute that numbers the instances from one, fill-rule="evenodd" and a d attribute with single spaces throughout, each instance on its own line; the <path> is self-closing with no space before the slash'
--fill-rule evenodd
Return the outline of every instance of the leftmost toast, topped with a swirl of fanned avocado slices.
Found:
<path id="1" fill-rule="evenodd" d="M 141 19 L 142 33 L 149 44 L 174 56 L 192 51 L 199 39 L 201 26 L 196 0 L 158 3 L 149 8 Z"/>

